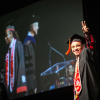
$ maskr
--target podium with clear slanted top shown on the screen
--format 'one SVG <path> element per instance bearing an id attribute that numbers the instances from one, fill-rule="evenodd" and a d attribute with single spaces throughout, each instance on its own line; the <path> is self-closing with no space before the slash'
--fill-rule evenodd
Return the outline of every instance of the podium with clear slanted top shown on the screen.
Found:
<path id="1" fill-rule="evenodd" d="M 42 92 L 64 87 L 65 67 L 74 60 L 58 62 L 40 74 Z"/>

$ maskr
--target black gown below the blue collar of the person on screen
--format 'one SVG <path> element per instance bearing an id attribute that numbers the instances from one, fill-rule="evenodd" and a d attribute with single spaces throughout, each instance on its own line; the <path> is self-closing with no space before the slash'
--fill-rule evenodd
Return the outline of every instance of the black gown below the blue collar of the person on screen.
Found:
<path id="1" fill-rule="evenodd" d="M 28 95 L 34 94 L 36 88 L 35 43 L 27 40 L 24 44 L 24 57 Z"/>

